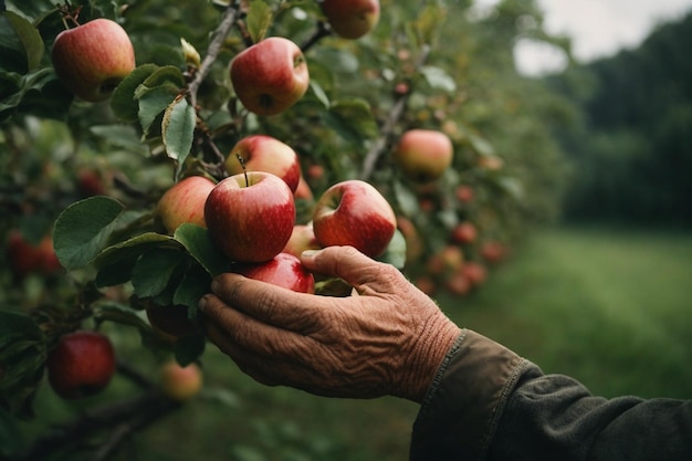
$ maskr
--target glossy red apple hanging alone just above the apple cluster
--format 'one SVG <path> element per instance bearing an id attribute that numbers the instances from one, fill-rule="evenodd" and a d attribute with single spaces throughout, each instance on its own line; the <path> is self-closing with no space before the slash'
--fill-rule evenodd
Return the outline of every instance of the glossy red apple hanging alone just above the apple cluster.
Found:
<path id="1" fill-rule="evenodd" d="M 276 115 L 307 91 L 310 74 L 303 52 L 289 39 L 270 36 L 240 52 L 231 61 L 231 83 L 245 108 Z"/>

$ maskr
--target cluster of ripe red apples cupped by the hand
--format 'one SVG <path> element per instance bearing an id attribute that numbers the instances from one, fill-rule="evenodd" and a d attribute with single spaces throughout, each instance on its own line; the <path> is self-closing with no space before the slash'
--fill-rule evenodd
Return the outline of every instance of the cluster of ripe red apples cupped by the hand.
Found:
<path id="1" fill-rule="evenodd" d="M 312 221 L 296 222 L 295 200 L 305 195 L 301 185 L 310 197 L 312 191 L 295 150 L 271 136 L 240 139 L 227 157 L 226 169 L 229 176 L 218 184 L 202 176 L 176 182 L 159 199 L 156 216 L 168 233 L 185 222 L 206 228 L 232 262 L 231 270 L 245 276 L 314 293 L 314 276 L 298 259 L 303 251 L 352 245 L 376 258 L 395 234 L 392 208 L 373 185 L 358 179 L 329 187 L 316 201 Z M 166 325 L 180 324 L 168 318 L 174 310 L 147 315 L 159 329 L 181 334 Z"/>

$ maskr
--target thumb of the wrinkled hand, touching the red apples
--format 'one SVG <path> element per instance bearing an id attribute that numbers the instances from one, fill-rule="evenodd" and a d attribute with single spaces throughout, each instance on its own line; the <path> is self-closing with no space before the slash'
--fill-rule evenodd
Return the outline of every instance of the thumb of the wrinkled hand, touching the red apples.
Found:
<path id="1" fill-rule="evenodd" d="M 353 247 L 327 247 L 304 251 L 301 262 L 311 272 L 343 279 L 352 286 L 373 282 L 380 272 L 380 263 Z"/>

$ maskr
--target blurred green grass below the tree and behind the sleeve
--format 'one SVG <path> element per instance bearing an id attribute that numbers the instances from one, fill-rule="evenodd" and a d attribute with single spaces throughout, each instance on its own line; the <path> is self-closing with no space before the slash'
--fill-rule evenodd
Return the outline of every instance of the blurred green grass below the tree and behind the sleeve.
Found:
<path id="1" fill-rule="evenodd" d="M 595 394 L 692 398 L 691 295 L 692 235 L 572 228 L 533 235 L 481 292 L 439 302 L 460 325 Z M 264 387 L 213 346 L 205 368 L 199 401 L 139 434 L 118 460 L 408 459 L 413 404 Z M 65 405 L 52 404 L 56 412 Z"/>

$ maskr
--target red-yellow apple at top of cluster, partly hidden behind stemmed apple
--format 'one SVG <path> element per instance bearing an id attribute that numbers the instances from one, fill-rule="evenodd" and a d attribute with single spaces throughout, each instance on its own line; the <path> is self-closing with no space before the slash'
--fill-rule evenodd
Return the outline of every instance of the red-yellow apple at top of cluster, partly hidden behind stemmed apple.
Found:
<path id="1" fill-rule="evenodd" d="M 244 169 L 238 156 L 243 159 Z M 247 136 L 239 140 L 226 159 L 226 170 L 231 176 L 244 170 L 271 172 L 283 179 L 292 192 L 295 192 L 301 179 L 301 164 L 295 150 L 265 135 Z"/>

